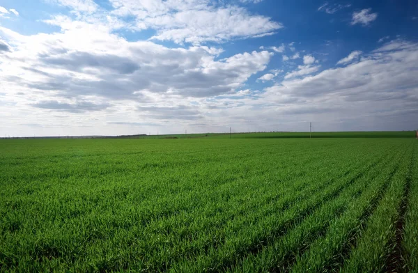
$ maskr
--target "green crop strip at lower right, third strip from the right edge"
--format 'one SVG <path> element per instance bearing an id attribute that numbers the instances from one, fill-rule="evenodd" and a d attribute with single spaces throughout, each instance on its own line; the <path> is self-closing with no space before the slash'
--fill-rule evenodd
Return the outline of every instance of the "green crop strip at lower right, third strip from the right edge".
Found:
<path id="1" fill-rule="evenodd" d="M 378 169 L 381 172 L 376 179 L 384 182 L 376 189 L 375 194 L 366 203 L 350 204 L 351 208 L 346 214 L 332 221 L 327 235 L 312 243 L 309 251 L 297 256 L 296 263 L 292 267 L 293 272 L 329 272 L 341 265 L 342 260 L 349 254 L 350 246 L 356 244 L 367 219 L 386 194 L 387 187 L 398 171 L 400 165 L 398 157 L 403 150 L 405 148 L 398 152 L 392 164 L 389 164 L 389 168 L 383 169 L 384 171 Z"/>

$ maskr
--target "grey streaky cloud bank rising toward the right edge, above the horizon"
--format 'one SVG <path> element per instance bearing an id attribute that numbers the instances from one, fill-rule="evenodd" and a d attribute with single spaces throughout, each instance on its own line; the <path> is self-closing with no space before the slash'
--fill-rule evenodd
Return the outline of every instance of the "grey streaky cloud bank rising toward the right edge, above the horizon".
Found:
<path id="1" fill-rule="evenodd" d="M 417 63 L 418 44 L 396 40 L 343 68 L 288 77 L 266 88 L 261 100 L 291 102 L 280 112 L 300 118 L 315 115 L 330 123 L 338 120 L 351 129 L 412 129 L 418 114 Z M 327 116 L 330 111 L 332 115 Z"/>

